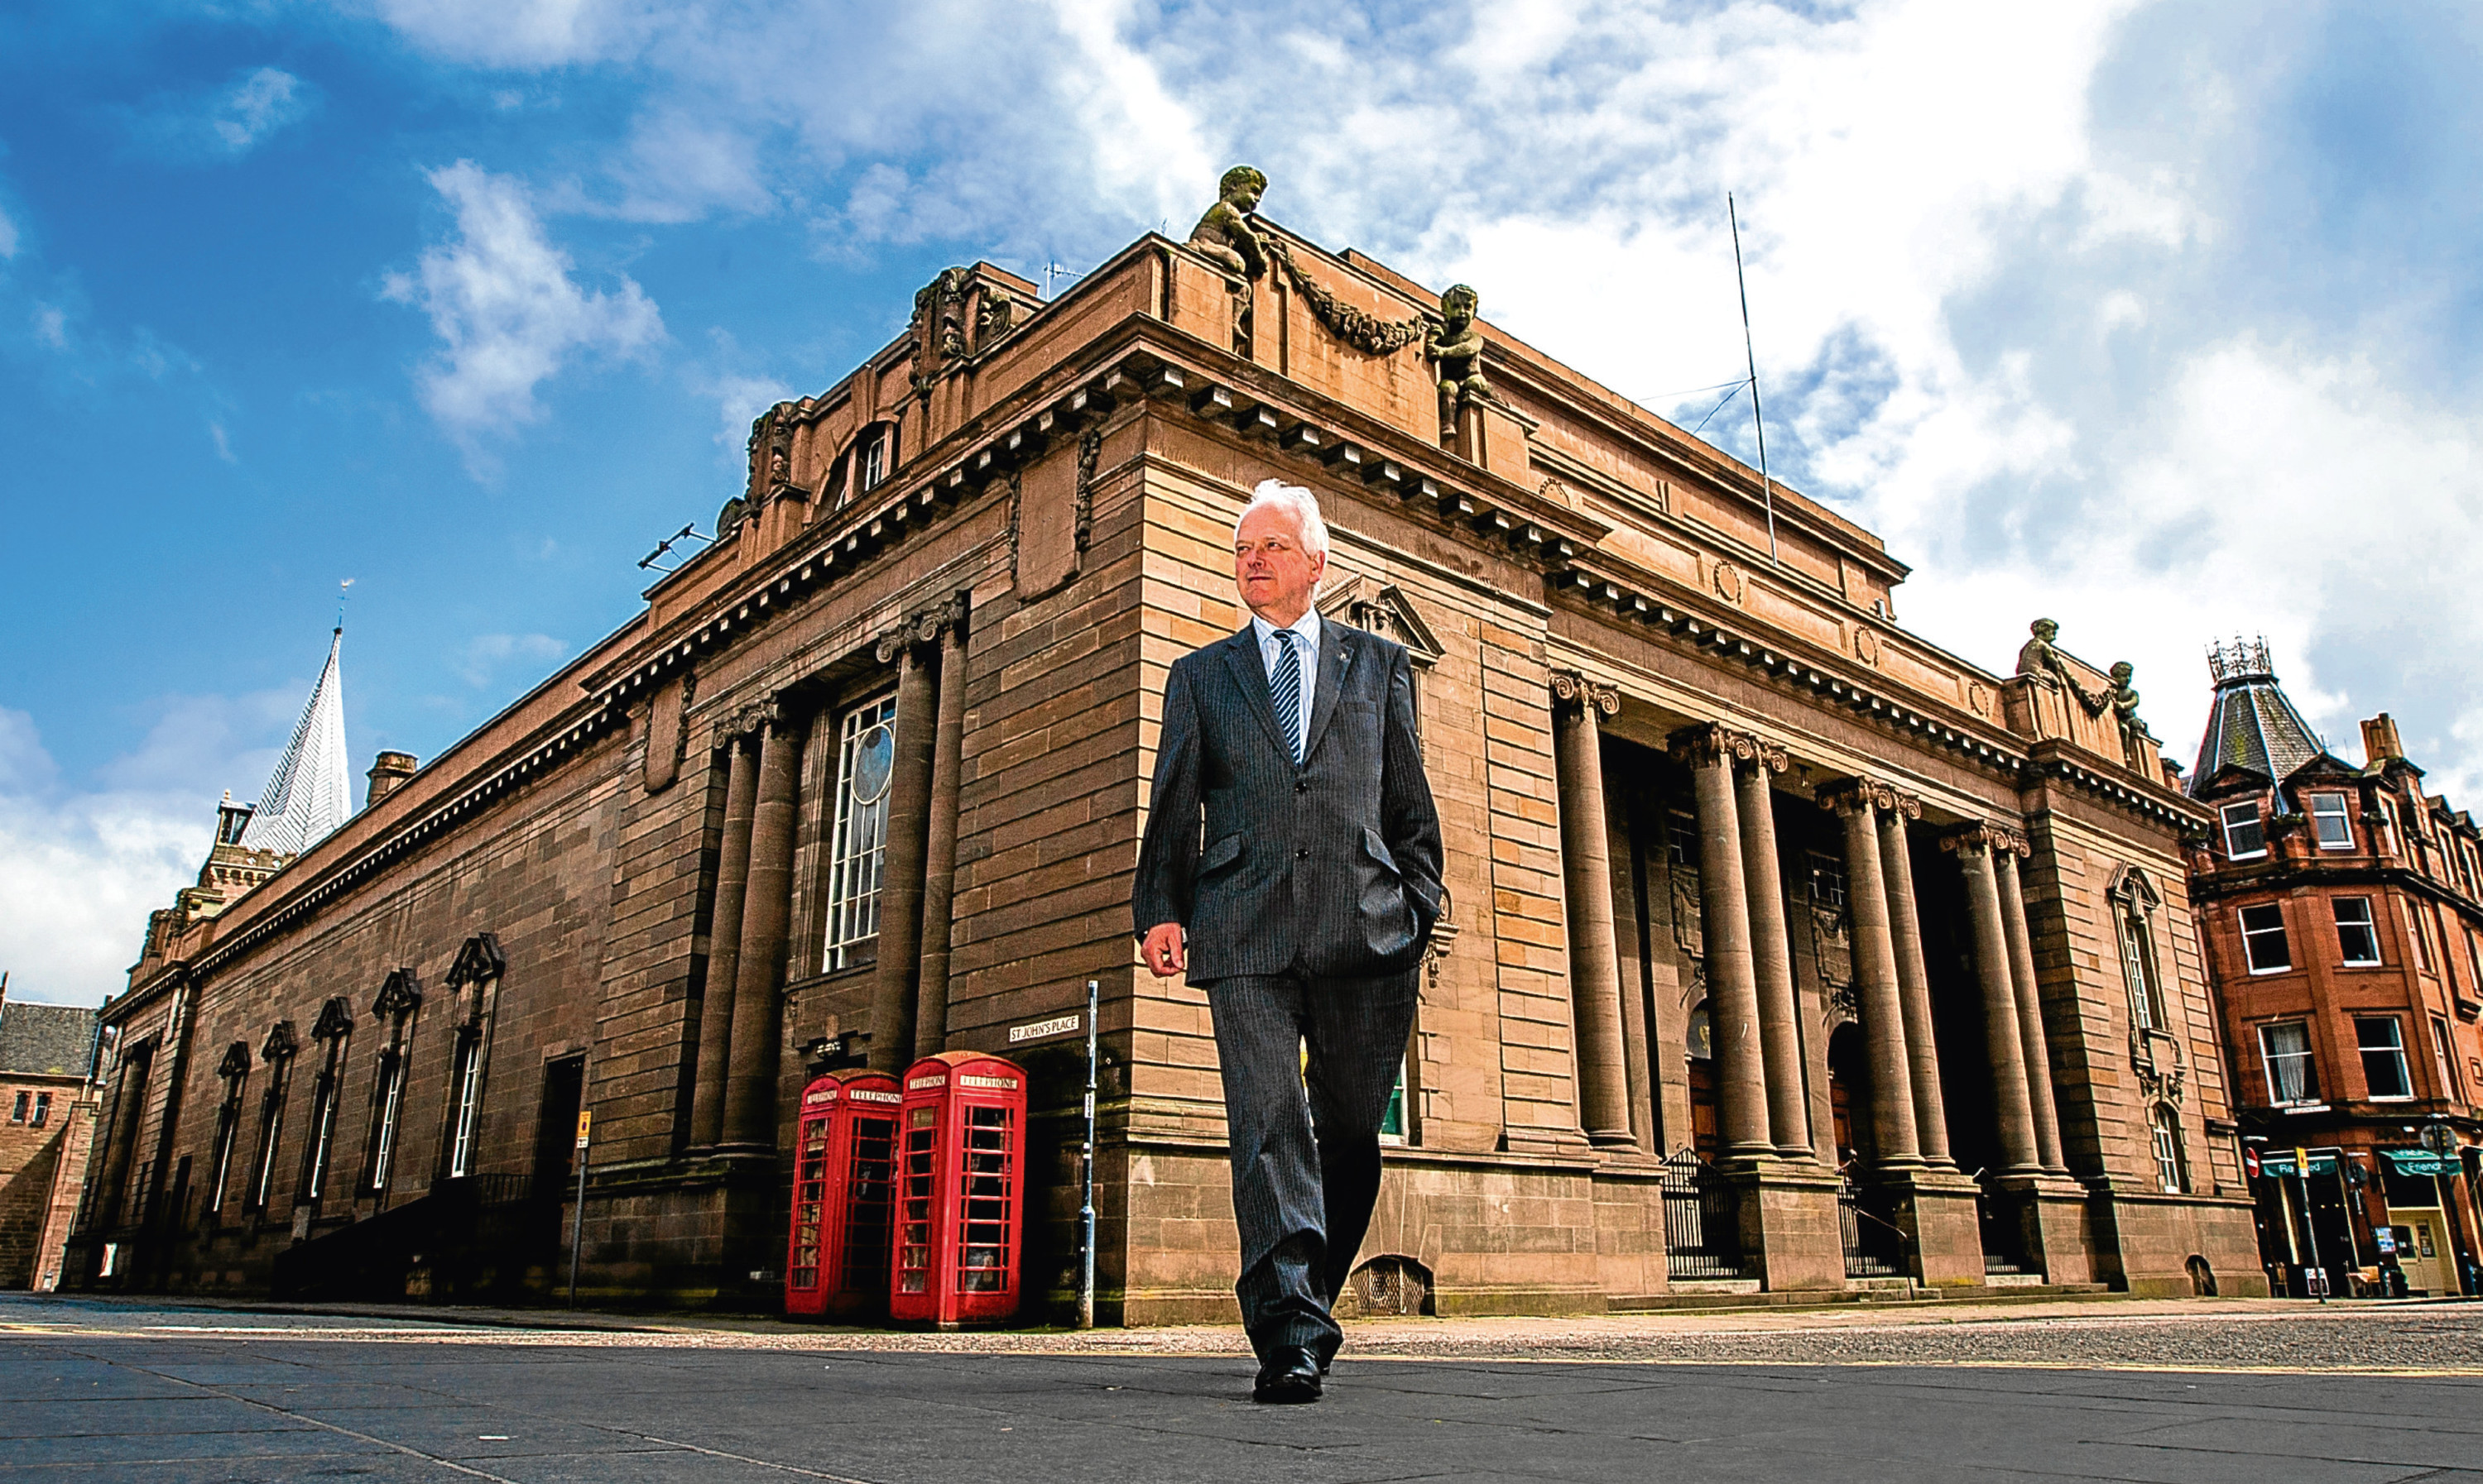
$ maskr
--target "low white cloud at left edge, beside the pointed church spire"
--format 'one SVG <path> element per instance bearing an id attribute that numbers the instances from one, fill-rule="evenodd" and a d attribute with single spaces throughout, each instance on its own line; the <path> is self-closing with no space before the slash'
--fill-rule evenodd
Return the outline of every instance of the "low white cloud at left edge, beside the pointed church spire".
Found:
<path id="1" fill-rule="evenodd" d="M 146 913 L 206 861 L 216 797 L 276 767 L 298 690 L 171 697 L 137 752 L 62 779 L 32 717 L 0 710 L 0 968 L 10 995 L 92 1005 L 124 983 Z"/>

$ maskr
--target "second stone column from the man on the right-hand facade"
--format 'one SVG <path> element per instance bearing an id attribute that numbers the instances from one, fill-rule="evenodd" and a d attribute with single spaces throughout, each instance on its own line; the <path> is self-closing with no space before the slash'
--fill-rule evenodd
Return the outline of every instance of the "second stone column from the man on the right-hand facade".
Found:
<path id="1" fill-rule="evenodd" d="M 1760 1055 L 1758 973 L 1751 960 L 1751 898 L 1743 891 L 1741 811 L 1733 757 L 1755 740 L 1726 727 L 1671 737 L 1698 799 L 1698 916 L 1706 941 L 1708 1032 L 1716 1042 L 1716 1132 L 1728 1159 L 1775 1154 L 1768 1137 L 1768 1070 Z"/>

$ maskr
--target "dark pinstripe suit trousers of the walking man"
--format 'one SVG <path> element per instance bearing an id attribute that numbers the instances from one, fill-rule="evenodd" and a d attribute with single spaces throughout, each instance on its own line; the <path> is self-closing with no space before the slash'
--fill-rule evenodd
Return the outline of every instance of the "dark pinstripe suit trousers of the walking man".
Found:
<path id="1" fill-rule="evenodd" d="M 1242 1228 L 1234 1293 L 1261 1362 L 1276 1345 L 1326 1360 L 1343 1340 L 1328 1305 L 1381 1191 L 1381 1119 L 1413 1030 L 1415 973 L 1202 985 L 1224 1062 Z"/>

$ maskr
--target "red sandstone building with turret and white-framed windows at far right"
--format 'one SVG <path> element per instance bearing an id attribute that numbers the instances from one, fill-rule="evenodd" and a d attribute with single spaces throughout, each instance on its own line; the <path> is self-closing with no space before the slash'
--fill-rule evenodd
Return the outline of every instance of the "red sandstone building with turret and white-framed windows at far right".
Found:
<path id="1" fill-rule="evenodd" d="M 2284 1293 L 2304 1268 L 2476 1293 L 2483 1139 L 2483 831 L 2423 792 L 2396 722 L 2329 752 L 2264 643 L 2210 653 L 2215 710 L 2190 841 L 2235 1109 L 2260 1166 L 2260 1248 Z M 2431 1127 L 2433 1147 L 2421 1134 Z"/>

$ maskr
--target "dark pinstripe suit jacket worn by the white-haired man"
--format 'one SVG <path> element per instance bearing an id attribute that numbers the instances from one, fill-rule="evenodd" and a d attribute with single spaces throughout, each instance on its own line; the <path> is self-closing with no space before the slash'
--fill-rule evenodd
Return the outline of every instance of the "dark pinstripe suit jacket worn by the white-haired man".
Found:
<path id="1" fill-rule="evenodd" d="M 1130 906 L 1140 936 L 1187 928 L 1192 983 L 1400 973 L 1440 916 L 1405 645 L 1321 625 L 1299 767 L 1249 628 L 1172 663 Z"/>

